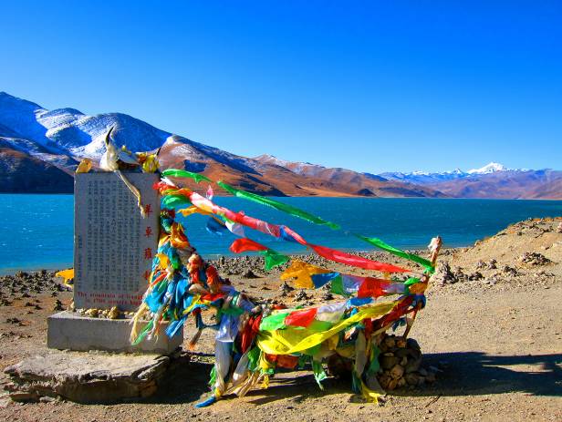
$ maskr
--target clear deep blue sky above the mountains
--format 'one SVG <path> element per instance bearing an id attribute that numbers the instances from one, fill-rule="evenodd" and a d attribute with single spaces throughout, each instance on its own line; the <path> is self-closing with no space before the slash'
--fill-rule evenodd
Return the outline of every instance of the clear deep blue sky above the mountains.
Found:
<path id="1" fill-rule="evenodd" d="M 463 3 L 463 5 L 461 5 Z M 0 90 L 333 167 L 562 165 L 562 2 L 0 2 Z"/>

